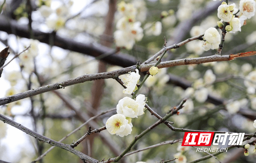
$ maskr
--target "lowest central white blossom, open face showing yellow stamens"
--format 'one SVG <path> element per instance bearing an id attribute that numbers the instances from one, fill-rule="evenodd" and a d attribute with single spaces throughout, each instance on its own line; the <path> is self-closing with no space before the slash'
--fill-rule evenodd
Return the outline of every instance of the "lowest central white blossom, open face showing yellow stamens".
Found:
<path id="1" fill-rule="evenodd" d="M 110 134 L 116 134 L 120 137 L 131 134 L 131 124 L 122 114 L 115 114 L 108 118 L 106 122 L 106 128 Z"/>

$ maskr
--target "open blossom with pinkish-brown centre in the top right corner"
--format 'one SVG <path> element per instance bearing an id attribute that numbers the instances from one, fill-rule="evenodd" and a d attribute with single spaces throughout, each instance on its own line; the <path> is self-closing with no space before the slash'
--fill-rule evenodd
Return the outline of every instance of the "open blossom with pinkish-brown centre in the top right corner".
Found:
<path id="1" fill-rule="evenodd" d="M 240 0 L 239 10 L 242 15 L 246 16 L 247 19 L 250 19 L 255 14 L 255 0 Z"/>

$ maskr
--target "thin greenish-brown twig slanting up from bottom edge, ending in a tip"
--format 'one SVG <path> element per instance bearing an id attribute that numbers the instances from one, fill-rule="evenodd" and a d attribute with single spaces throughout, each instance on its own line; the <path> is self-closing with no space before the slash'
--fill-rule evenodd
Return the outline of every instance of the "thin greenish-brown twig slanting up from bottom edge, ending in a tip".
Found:
<path id="1" fill-rule="evenodd" d="M 156 126 L 158 126 L 160 123 L 164 123 L 169 117 L 171 117 L 173 114 L 176 114 L 178 110 L 180 110 L 183 107 L 183 104 L 186 102 L 186 100 L 182 100 L 179 106 L 174 107 L 170 109 L 170 111 L 161 119 L 157 120 L 156 123 L 149 126 L 147 129 L 145 129 L 142 133 L 137 135 L 134 140 L 131 142 L 131 144 L 120 154 L 116 159 L 115 162 L 118 162 L 128 151 L 131 150 L 131 147 L 139 140 L 141 137 L 143 137 L 145 134 L 150 132 L 152 129 L 154 129 Z"/>

